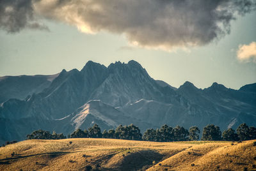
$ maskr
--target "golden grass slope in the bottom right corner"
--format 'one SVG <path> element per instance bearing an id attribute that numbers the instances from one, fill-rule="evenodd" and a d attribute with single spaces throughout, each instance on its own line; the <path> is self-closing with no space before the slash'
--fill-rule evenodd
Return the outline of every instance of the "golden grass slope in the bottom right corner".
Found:
<path id="1" fill-rule="evenodd" d="M 193 146 L 148 170 L 256 170 L 256 140 Z"/>

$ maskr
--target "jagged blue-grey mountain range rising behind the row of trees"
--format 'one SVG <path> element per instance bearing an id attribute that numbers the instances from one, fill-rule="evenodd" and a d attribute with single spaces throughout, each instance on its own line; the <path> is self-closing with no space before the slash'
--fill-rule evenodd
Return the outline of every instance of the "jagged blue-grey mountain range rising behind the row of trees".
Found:
<path id="1" fill-rule="evenodd" d="M 34 130 L 65 135 L 99 124 L 102 130 L 135 124 L 141 131 L 216 124 L 221 130 L 256 125 L 256 83 L 229 89 L 214 82 L 198 89 L 154 80 L 136 61 L 108 67 L 88 61 L 81 71 L 0 77 L 0 143 Z"/>

